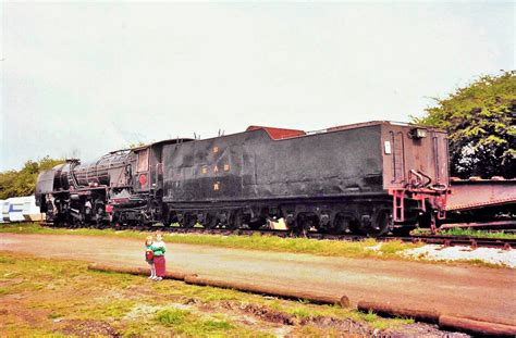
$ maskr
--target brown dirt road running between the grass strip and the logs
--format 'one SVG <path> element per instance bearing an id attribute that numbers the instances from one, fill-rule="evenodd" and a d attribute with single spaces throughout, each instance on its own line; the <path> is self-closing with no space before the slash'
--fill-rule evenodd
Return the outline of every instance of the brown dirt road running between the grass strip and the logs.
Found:
<path id="1" fill-rule="evenodd" d="M 126 238 L 0 235 L 0 251 L 125 266 L 146 266 L 144 246 Z M 516 324 L 516 271 L 466 265 L 169 245 L 169 271 L 277 288 L 346 295 L 416 309 Z"/>

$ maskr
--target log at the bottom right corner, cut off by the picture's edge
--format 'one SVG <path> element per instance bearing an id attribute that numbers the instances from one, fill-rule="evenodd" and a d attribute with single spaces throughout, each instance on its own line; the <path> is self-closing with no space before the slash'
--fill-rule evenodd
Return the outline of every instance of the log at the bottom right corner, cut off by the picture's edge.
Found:
<path id="1" fill-rule="evenodd" d="M 439 327 L 443 329 L 459 330 L 475 336 L 515 337 L 516 326 L 462 318 L 452 315 L 441 315 Z"/>

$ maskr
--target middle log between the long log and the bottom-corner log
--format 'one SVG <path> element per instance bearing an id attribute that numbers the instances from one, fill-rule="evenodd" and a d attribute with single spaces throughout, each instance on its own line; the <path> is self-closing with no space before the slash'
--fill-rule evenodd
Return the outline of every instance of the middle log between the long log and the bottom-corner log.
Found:
<path id="1" fill-rule="evenodd" d="M 419 322 L 439 323 L 440 313 L 435 310 L 416 310 L 416 309 L 406 309 L 394 306 L 389 303 L 376 303 L 376 302 L 366 302 L 360 301 L 357 304 L 359 311 L 363 312 L 376 312 L 379 315 L 386 316 L 398 316 L 398 317 L 410 317 Z"/>

